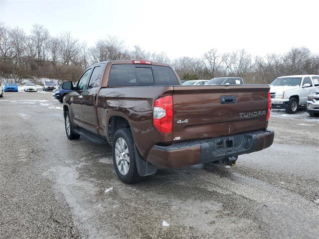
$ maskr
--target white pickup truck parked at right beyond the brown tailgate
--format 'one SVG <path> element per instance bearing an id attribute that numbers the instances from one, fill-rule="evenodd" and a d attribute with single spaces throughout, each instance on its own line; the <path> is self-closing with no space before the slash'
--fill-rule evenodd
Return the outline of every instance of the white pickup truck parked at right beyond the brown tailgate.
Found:
<path id="1" fill-rule="evenodd" d="M 295 114 L 300 106 L 306 106 L 309 91 L 319 86 L 318 75 L 283 76 L 270 84 L 272 109 L 285 109 Z"/>

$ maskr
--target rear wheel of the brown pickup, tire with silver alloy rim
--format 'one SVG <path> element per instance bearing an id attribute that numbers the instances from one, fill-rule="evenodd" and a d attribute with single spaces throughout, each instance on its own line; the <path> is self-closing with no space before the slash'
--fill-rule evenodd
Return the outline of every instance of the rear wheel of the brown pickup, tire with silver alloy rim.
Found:
<path id="1" fill-rule="evenodd" d="M 113 137 L 112 155 L 115 172 L 124 183 L 141 180 L 135 162 L 134 140 L 130 128 L 117 130 Z"/>

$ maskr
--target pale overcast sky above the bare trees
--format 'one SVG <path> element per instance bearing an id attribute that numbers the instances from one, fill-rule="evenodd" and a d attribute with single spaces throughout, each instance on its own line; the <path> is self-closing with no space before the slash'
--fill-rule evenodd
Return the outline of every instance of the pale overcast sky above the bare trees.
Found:
<path id="1" fill-rule="evenodd" d="M 0 0 L 0 21 L 71 31 L 93 45 L 107 35 L 170 58 L 246 48 L 253 55 L 305 46 L 319 53 L 318 0 Z"/>

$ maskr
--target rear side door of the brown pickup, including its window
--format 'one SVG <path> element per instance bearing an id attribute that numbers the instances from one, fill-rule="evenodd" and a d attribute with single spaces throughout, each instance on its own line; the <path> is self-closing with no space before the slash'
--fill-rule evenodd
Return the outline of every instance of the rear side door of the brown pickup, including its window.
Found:
<path id="1" fill-rule="evenodd" d="M 105 64 L 94 66 L 87 89 L 82 92 L 82 115 L 83 127 L 87 130 L 98 133 L 96 115 L 96 96 L 101 86 Z"/>

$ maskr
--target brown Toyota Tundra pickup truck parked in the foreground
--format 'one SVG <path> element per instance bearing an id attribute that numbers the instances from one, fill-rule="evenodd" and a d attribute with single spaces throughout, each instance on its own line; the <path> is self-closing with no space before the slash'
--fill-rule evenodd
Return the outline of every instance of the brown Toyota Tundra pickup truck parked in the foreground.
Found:
<path id="1" fill-rule="evenodd" d="M 169 65 L 108 61 L 89 67 L 64 97 L 69 139 L 112 145 L 117 175 L 133 183 L 158 168 L 224 161 L 269 147 L 268 85 L 181 86 Z"/>

